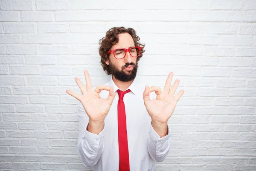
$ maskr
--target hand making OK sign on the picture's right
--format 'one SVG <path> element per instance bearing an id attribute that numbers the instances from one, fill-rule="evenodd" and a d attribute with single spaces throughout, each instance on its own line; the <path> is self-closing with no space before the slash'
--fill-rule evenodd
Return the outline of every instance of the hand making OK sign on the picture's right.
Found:
<path id="1" fill-rule="evenodd" d="M 151 86 L 151 88 L 146 86 L 145 91 L 143 92 L 144 104 L 148 114 L 152 120 L 159 123 L 167 123 L 169 118 L 172 116 L 177 101 L 184 93 L 184 90 L 180 90 L 180 92 L 174 96 L 180 81 L 176 80 L 170 89 L 172 76 L 173 73 L 171 72 L 167 77 L 163 92 L 160 87 L 156 86 Z M 153 91 L 157 94 L 157 97 L 154 100 L 150 100 L 149 93 Z"/>

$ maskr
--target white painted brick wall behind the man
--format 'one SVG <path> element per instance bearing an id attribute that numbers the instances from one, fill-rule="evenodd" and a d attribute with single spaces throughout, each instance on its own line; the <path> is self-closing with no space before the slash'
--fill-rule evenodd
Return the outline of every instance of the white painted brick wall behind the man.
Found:
<path id="1" fill-rule="evenodd" d="M 146 43 L 138 77 L 185 93 L 158 171 L 256 171 L 256 0 L 0 0 L 0 170 L 90 170 L 76 151 L 74 77 L 93 85 L 113 26 Z"/>

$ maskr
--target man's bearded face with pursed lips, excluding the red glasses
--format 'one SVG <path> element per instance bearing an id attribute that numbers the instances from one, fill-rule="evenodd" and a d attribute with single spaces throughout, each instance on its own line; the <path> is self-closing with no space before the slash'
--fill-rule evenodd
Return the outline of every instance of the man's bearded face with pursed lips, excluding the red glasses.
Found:
<path id="1" fill-rule="evenodd" d="M 134 47 L 134 41 L 130 34 L 121 33 L 118 35 L 119 41 L 111 47 L 111 50 L 117 48 L 130 48 Z M 109 65 L 110 73 L 117 79 L 123 82 L 134 80 L 137 74 L 138 58 L 131 57 L 130 53 L 126 53 L 122 59 L 116 59 L 111 53 L 109 61 L 105 61 Z"/>

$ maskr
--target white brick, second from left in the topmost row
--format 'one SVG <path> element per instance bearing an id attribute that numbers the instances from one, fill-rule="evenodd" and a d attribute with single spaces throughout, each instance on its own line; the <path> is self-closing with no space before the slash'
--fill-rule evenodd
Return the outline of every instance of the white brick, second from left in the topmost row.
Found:
<path id="1" fill-rule="evenodd" d="M 41 10 L 68 10 L 68 0 L 36 0 L 36 9 Z"/>

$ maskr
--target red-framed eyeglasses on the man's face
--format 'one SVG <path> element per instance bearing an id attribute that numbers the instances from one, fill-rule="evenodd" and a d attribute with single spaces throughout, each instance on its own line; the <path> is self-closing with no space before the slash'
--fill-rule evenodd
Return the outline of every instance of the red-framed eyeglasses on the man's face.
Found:
<path id="1" fill-rule="evenodd" d="M 114 57 L 116 59 L 122 59 L 125 57 L 127 52 L 130 53 L 131 57 L 138 57 L 140 56 L 140 50 L 141 50 L 141 47 L 139 46 L 131 47 L 131 48 L 118 48 L 114 50 L 109 50 L 107 54 L 110 54 L 111 52 L 113 52 Z"/>

